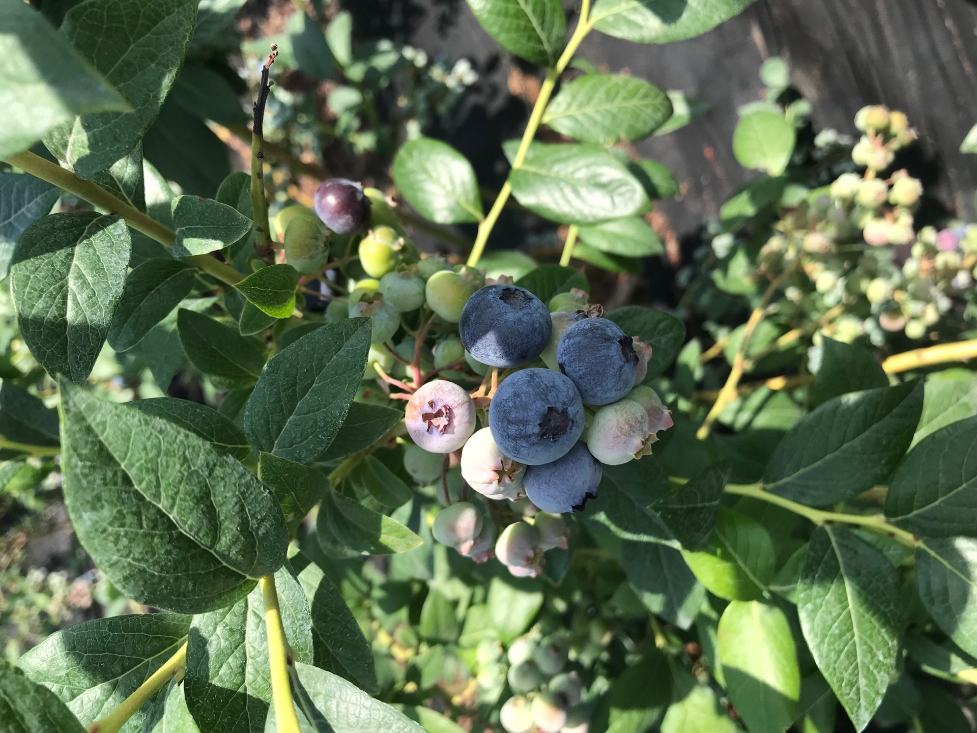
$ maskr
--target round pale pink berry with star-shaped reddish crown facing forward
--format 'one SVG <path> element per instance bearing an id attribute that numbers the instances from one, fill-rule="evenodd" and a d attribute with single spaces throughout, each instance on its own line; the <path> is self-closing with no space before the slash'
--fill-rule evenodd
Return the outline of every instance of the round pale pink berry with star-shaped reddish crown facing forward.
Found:
<path id="1" fill-rule="evenodd" d="M 475 403 L 464 388 L 435 379 L 411 395 L 404 422 L 414 443 L 425 451 L 452 453 L 475 432 Z"/>

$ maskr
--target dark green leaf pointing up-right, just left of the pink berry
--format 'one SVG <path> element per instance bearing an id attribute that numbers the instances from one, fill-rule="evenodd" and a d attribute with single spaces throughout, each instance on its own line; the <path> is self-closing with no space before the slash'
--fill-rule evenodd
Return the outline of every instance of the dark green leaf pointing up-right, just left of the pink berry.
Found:
<path id="1" fill-rule="evenodd" d="M 356 397 L 369 338 L 369 319 L 349 319 L 282 349 L 262 369 L 244 409 L 251 445 L 299 463 L 318 458 Z"/>

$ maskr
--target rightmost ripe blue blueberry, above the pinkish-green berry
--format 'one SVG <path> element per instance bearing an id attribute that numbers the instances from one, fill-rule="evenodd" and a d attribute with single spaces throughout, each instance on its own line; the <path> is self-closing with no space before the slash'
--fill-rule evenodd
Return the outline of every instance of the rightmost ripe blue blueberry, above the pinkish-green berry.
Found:
<path id="1" fill-rule="evenodd" d="M 616 402 L 634 386 L 639 361 L 634 341 L 608 319 L 573 323 L 560 339 L 556 357 L 587 405 Z"/>

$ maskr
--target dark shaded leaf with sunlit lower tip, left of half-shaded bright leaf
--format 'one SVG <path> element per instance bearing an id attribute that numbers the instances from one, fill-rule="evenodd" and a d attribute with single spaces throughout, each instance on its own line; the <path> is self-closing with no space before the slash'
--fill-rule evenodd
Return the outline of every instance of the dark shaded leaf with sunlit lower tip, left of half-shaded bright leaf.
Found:
<path id="1" fill-rule="evenodd" d="M 705 598 L 682 553 L 657 542 L 621 543 L 621 564 L 631 587 L 656 616 L 688 628 Z"/>

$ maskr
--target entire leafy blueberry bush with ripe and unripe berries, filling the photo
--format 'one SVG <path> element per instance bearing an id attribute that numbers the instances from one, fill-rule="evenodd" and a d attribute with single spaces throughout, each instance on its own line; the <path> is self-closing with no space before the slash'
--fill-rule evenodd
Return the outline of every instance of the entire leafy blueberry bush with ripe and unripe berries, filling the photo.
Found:
<path id="1" fill-rule="evenodd" d="M 0 0 L 0 517 L 83 548 L 0 548 L 0 733 L 970 731 L 977 227 L 906 115 L 768 60 L 679 297 L 602 304 L 698 107 L 577 49 L 751 2 L 467 0 L 544 69 L 492 191 L 472 66 L 335 4 Z"/>

